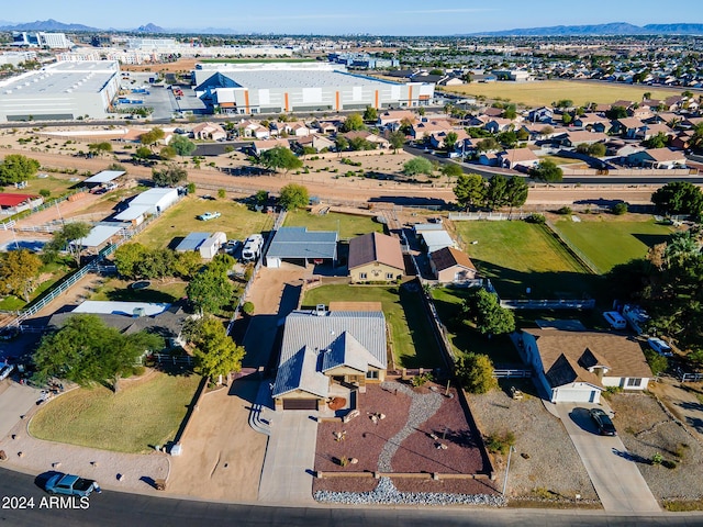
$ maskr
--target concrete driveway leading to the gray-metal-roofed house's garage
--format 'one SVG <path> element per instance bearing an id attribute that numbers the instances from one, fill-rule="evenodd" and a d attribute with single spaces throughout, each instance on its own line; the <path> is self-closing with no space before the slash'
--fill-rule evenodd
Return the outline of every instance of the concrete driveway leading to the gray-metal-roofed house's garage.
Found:
<path id="1" fill-rule="evenodd" d="M 311 505 L 317 412 L 278 411 L 271 419 L 259 502 Z"/>

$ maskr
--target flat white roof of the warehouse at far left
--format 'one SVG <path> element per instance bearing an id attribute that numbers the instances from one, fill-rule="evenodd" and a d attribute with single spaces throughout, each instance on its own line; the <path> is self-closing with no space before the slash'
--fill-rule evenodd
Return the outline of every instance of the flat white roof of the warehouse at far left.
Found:
<path id="1" fill-rule="evenodd" d="M 115 64 L 111 60 L 56 63 L 0 82 L 0 94 L 99 93 L 119 71 Z"/>

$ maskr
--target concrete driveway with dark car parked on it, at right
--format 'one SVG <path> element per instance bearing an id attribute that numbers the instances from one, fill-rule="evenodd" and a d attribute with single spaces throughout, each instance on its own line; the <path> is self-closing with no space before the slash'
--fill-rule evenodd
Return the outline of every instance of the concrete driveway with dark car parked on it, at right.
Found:
<path id="1" fill-rule="evenodd" d="M 600 436 L 587 403 L 558 403 L 559 418 L 609 513 L 660 512 L 659 504 L 618 437 Z M 609 412 L 607 408 L 605 408 Z M 610 413 L 610 412 L 609 412 Z M 617 422 L 615 423 L 617 426 Z"/>

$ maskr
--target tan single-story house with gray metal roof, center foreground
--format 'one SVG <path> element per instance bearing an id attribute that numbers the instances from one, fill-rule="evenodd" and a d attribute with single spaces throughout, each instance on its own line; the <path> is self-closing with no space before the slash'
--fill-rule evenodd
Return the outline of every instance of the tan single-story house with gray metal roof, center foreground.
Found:
<path id="1" fill-rule="evenodd" d="M 387 360 L 382 311 L 293 311 L 283 325 L 276 410 L 316 411 L 333 382 L 360 390 L 382 382 Z"/>

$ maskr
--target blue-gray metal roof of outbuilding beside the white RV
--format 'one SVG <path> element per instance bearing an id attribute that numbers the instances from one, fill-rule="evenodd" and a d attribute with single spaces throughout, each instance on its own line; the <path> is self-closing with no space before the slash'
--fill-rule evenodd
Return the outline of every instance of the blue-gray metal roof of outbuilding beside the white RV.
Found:
<path id="1" fill-rule="evenodd" d="M 337 258 L 335 231 L 308 231 L 308 227 L 281 227 L 266 253 L 267 258 Z"/>

